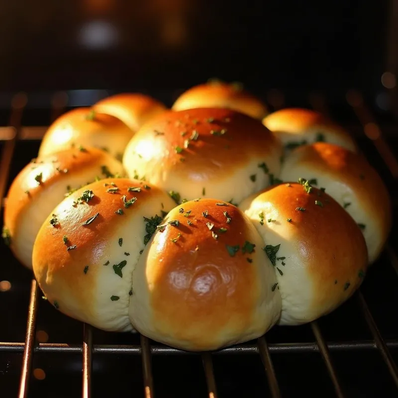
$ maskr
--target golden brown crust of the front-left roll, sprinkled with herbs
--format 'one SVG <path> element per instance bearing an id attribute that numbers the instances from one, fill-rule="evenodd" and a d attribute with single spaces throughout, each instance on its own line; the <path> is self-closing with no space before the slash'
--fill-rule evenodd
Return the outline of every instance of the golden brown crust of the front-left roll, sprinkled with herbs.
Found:
<path id="1" fill-rule="evenodd" d="M 115 183 L 117 192 L 108 192 L 114 188 L 111 183 Z M 140 187 L 141 190 L 129 192 L 129 187 Z M 87 202 L 79 200 L 85 191 L 94 194 Z M 126 198 L 123 199 L 123 196 Z M 128 179 L 105 179 L 81 188 L 64 199 L 54 209 L 59 224 L 52 226 L 49 222 L 52 217 L 50 215 L 43 223 L 33 248 L 33 270 L 43 292 L 46 295 L 50 293 L 49 299 L 53 299 L 54 292 L 58 292 L 64 300 L 70 296 L 78 302 L 81 306 L 77 311 L 79 314 L 94 312 L 98 305 L 98 300 L 94 298 L 98 294 L 98 273 L 102 272 L 100 268 L 109 255 L 108 247 L 114 245 L 118 238 L 124 238 L 125 243 L 129 238 L 137 238 L 133 231 L 131 237 L 117 236 L 116 229 L 134 219 L 148 199 L 157 197 L 165 197 L 165 194 L 149 184 Z M 137 200 L 126 208 L 124 201 L 132 198 Z M 122 209 L 123 214 L 116 213 L 119 209 Z M 96 214 L 98 216 L 91 223 L 83 225 Z M 129 229 L 126 227 L 126 230 Z M 91 266 L 87 274 L 83 272 L 86 264 Z M 69 313 L 65 308 L 62 310 L 67 315 L 76 317 L 76 313 Z"/>

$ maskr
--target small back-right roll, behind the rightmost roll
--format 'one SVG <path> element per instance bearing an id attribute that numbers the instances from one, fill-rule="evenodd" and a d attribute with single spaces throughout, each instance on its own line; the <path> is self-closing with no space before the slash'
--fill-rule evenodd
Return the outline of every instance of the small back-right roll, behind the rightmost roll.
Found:
<path id="1" fill-rule="evenodd" d="M 263 123 L 280 138 L 288 151 L 299 145 L 324 141 L 357 152 L 357 146 L 347 131 L 313 110 L 281 109 L 266 116 Z"/>

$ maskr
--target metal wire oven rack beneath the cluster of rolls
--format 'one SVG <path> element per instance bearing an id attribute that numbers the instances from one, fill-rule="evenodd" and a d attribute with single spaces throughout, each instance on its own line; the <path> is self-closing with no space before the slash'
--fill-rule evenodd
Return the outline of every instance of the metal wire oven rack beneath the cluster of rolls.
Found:
<path id="1" fill-rule="evenodd" d="M 270 92 L 267 98 L 270 107 L 273 109 L 286 105 L 283 95 L 279 92 Z M 25 94 L 17 94 L 14 96 L 10 106 L 11 112 L 8 126 L 0 129 L 0 138 L 2 140 L 0 141 L 0 201 L 2 205 L 4 204 L 4 199 L 2 198 L 6 193 L 7 184 L 9 184 L 9 180 L 12 177 L 10 176 L 12 162 L 15 161 L 15 158 L 19 161 L 16 151 L 17 145 L 23 141 L 28 143 L 34 141 L 38 142 L 45 131 L 45 127 L 24 127 L 22 125 L 22 116 L 27 100 L 28 98 Z M 65 105 L 64 100 L 65 98 L 62 94 L 57 94 L 54 97 L 51 119 L 54 119 L 62 112 Z M 325 98 L 321 95 L 309 96 L 307 103 L 309 106 L 323 113 L 332 113 Z M 353 120 L 352 125 L 350 125 L 351 131 L 353 131 L 354 136 L 360 142 L 361 149 L 368 158 L 371 158 L 371 163 L 379 168 L 383 177 L 387 176 L 385 180 L 387 179 L 390 182 L 389 188 L 394 199 L 394 183 L 398 177 L 398 161 L 394 154 L 394 146 L 391 144 L 391 140 L 388 142 L 388 138 L 386 139 L 386 135 L 383 131 L 384 127 L 379 123 L 377 116 L 366 106 L 360 93 L 354 91 L 348 92 L 345 105 L 348 111 L 351 112 L 350 117 L 351 120 Z M 27 160 L 28 159 L 20 159 L 20 161 L 24 163 L 27 163 Z M 17 173 L 19 170 L 17 170 L 17 166 L 15 166 L 15 168 L 15 173 Z M 393 231 L 392 236 L 394 235 Z M 0 256 L 3 259 L 1 260 L 3 262 L 1 267 L 5 267 L 4 258 L 6 258 L 7 254 L 4 253 L 6 250 L 7 249 L 3 248 L 3 253 L 0 251 Z M 19 398 L 35 397 L 38 395 L 44 397 L 42 393 L 39 393 L 41 391 L 40 387 L 39 389 L 32 390 L 29 388 L 29 385 L 33 383 L 32 380 L 36 383 L 37 380 L 43 379 L 43 377 L 35 375 L 35 371 L 32 372 L 35 358 L 51 355 L 51 361 L 55 362 L 55 358 L 57 358 L 58 361 L 64 364 L 67 364 L 68 358 L 72 358 L 72 356 L 74 356 L 74 363 L 76 364 L 76 358 L 80 357 L 80 360 L 77 359 L 77 362 L 79 363 L 80 361 L 81 366 L 78 366 L 75 371 L 81 375 L 80 386 L 83 398 L 90 398 L 94 395 L 99 397 L 107 396 L 98 389 L 96 393 L 94 392 L 96 390 L 96 383 L 99 382 L 99 380 L 97 378 L 97 382 L 93 382 L 93 378 L 95 378 L 96 372 L 100 372 L 101 375 L 103 374 L 100 369 L 103 362 L 101 362 L 100 358 L 107 358 L 105 360 L 106 362 L 111 361 L 109 358 L 112 356 L 116 358 L 116 362 L 112 362 L 112 364 L 116 363 L 116 367 L 117 361 L 122 361 L 123 357 L 128 357 L 130 359 L 139 356 L 141 358 L 141 366 L 138 365 L 138 368 L 134 367 L 134 369 L 131 370 L 131 374 L 127 376 L 128 381 L 125 385 L 140 386 L 141 388 L 143 387 L 143 391 L 141 390 L 141 393 L 139 393 L 131 388 L 128 390 L 129 396 L 142 396 L 143 394 L 146 398 L 153 398 L 156 392 L 156 395 L 159 397 L 204 397 L 207 395 L 209 398 L 217 398 L 231 396 L 231 392 L 235 391 L 237 394 L 236 396 L 242 397 L 262 396 L 278 398 L 282 396 L 298 397 L 305 391 L 306 397 L 397 397 L 398 369 L 395 358 L 398 357 L 398 325 L 393 319 L 388 323 L 388 327 L 386 327 L 386 322 L 383 320 L 385 318 L 377 313 L 377 317 L 382 320 L 382 327 L 379 327 L 374 318 L 376 309 L 375 311 L 371 310 L 370 307 L 372 307 L 372 305 L 368 304 L 368 302 L 372 303 L 376 297 L 375 289 L 373 289 L 373 287 L 366 289 L 368 279 L 373 278 L 376 280 L 375 284 L 378 284 L 381 280 L 380 274 L 385 273 L 386 270 L 388 270 L 387 279 L 391 282 L 391 286 L 386 283 L 384 290 L 387 290 L 387 295 L 389 295 L 389 292 L 396 289 L 398 282 L 396 280 L 398 275 L 398 259 L 396 248 L 391 243 L 387 245 L 378 263 L 372 267 L 372 275 L 368 275 L 364 287 L 362 287 L 347 303 L 343 304 L 341 309 L 336 310 L 335 312 L 337 314 L 331 314 L 318 321 L 311 322 L 309 325 L 304 326 L 307 328 L 304 332 L 301 326 L 297 328 L 276 327 L 267 333 L 266 336 L 256 341 L 228 347 L 217 352 L 202 354 L 173 349 L 152 342 L 144 336 L 138 337 L 138 335 L 135 336 L 135 340 L 132 339 L 134 340 L 134 344 L 131 344 L 129 337 L 125 338 L 127 339 L 127 343 L 97 344 L 94 343 L 95 337 L 93 336 L 101 332 L 87 324 L 83 325 L 82 343 L 71 342 L 68 339 L 67 331 L 66 334 L 62 334 L 63 337 L 61 337 L 65 338 L 66 336 L 68 339 L 67 343 L 42 342 L 43 339 L 40 339 L 37 333 L 37 319 L 40 316 L 38 307 L 41 305 L 45 307 L 47 304 L 41 302 L 40 290 L 36 281 L 33 279 L 31 280 L 30 295 L 28 297 L 25 342 L 0 342 L 0 395 L 2 397 L 17 396 Z M 25 288 L 27 287 L 27 278 L 29 277 L 26 277 L 26 275 L 23 278 L 23 286 Z M 2 282 L 0 282 L 0 284 L 1 283 Z M 3 287 L 1 290 L 0 285 L 0 307 L 2 303 L 4 303 L 4 305 L 9 303 L 5 296 L 8 289 Z M 2 291 L 3 293 L 1 293 Z M 395 310 L 394 303 L 398 304 L 397 295 L 394 296 L 394 300 L 396 301 L 390 301 L 386 304 L 385 311 L 391 312 Z M 380 304 L 380 300 L 378 300 L 378 302 Z M 379 308 L 382 307 L 382 305 L 379 305 Z M 375 308 L 377 308 L 377 306 Z M 5 309 L 5 311 L 7 311 L 7 309 Z M 57 316 L 55 313 L 49 312 L 53 311 L 52 309 L 43 308 L 43 311 L 47 311 L 47 317 Z M 14 333 L 21 323 L 14 321 L 13 316 L 13 314 L 8 312 L 8 321 L 6 318 L 4 327 L 4 321 L 1 320 L 0 312 L 0 339 L 2 337 L 2 331 L 5 330 L 5 335 L 9 336 Z M 395 318 L 394 314 L 391 316 Z M 67 322 L 72 322 L 72 320 L 65 318 L 66 317 L 58 317 L 55 322 L 62 324 L 65 322 L 65 327 L 68 328 Z M 350 318 L 354 320 L 351 323 L 348 321 L 347 325 L 347 319 Z M 359 338 L 356 332 L 350 333 L 350 328 L 354 328 L 354 324 L 357 323 L 360 324 L 357 326 L 359 329 L 362 328 L 361 330 L 365 330 L 367 327 L 367 330 L 359 333 Z M 73 327 L 82 327 L 79 325 L 79 323 L 75 322 Z M 329 333 L 330 328 L 334 328 L 333 335 Z M 382 337 L 379 330 L 380 328 L 386 330 L 384 333 L 386 338 Z M 57 330 L 60 329 L 62 329 L 62 326 L 59 326 Z M 15 335 L 17 335 L 16 332 Z M 303 335 L 304 337 L 302 337 Z M 297 336 L 297 341 L 295 340 L 295 336 Z M 336 338 L 336 336 L 338 337 Z M 100 339 L 101 337 L 99 340 Z M 103 340 L 107 341 L 109 339 L 110 341 L 118 341 L 116 334 L 108 334 Z M 338 353 L 345 353 L 348 357 L 344 356 L 338 358 Z M 7 390 L 1 388 L 1 377 L 7 377 L 7 371 L 1 370 L 1 358 L 7 360 L 7 356 L 11 354 L 22 355 L 21 367 L 19 368 L 19 387 L 15 387 L 15 393 L 9 393 Z M 315 359 L 313 359 L 314 355 L 316 356 Z M 155 359 L 162 356 L 167 357 L 167 361 L 163 364 L 164 366 L 162 369 L 168 367 L 167 363 L 173 364 L 171 365 L 172 368 L 176 367 L 174 374 L 173 369 L 161 371 L 167 371 L 168 377 L 174 380 L 172 383 L 173 387 L 170 388 L 169 386 L 168 389 L 164 388 L 165 379 L 160 374 L 160 371 L 154 372 L 153 369 L 153 362 Z M 189 357 L 195 357 L 196 361 L 199 358 L 201 359 L 202 375 L 198 377 L 198 379 L 200 379 L 199 382 L 202 382 L 203 385 L 205 380 L 207 393 L 203 386 L 199 387 L 198 384 L 192 384 L 191 381 L 188 381 L 188 384 L 184 384 L 184 380 L 181 380 L 179 376 L 179 372 L 182 372 L 181 366 L 184 368 L 193 366 L 192 362 L 185 362 Z M 218 362 L 219 358 L 225 358 L 225 360 Z M 241 361 L 240 363 L 243 364 L 241 365 L 242 368 L 238 370 L 238 373 L 234 373 L 231 367 L 228 368 L 228 362 L 232 363 L 232 366 L 237 366 L 237 362 L 234 362 L 233 358 L 238 358 L 239 361 Z M 249 372 L 253 372 L 253 368 L 251 365 L 249 366 L 249 362 L 247 362 L 252 361 L 253 358 L 257 361 L 255 362 L 257 367 L 254 374 L 255 379 L 257 381 L 260 380 L 258 389 L 257 387 L 253 387 L 257 383 L 256 380 L 254 380 L 253 377 L 250 379 L 251 376 L 243 372 L 243 368 L 246 366 L 248 366 L 248 369 L 250 368 Z M 293 360 L 293 358 L 298 358 L 298 360 Z M 346 358 L 349 358 L 348 366 L 347 364 L 344 366 Z M 260 361 L 258 361 L 258 359 L 261 359 L 262 362 L 262 373 L 259 370 Z M 175 362 L 176 360 L 179 362 Z M 292 366 L 295 366 L 296 369 L 287 372 L 286 369 L 289 368 L 291 362 L 294 363 Z M 177 363 L 180 364 L 180 368 L 176 365 Z M 276 363 L 278 364 L 277 366 L 275 366 Z M 339 365 L 337 366 L 336 363 Z M 361 368 L 361 363 L 363 364 L 363 368 Z M 51 365 L 48 366 L 51 368 Z M 355 367 L 358 367 L 358 371 L 355 370 Z M 371 384 L 366 384 L 368 376 L 363 369 L 367 368 L 369 368 L 369 374 L 374 378 L 372 383 L 377 384 L 377 387 L 374 389 Z M 64 368 L 61 368 L 61 374 L 63 372 L 62 369 Z M 323 376 L 318 376 L 318 373 L 308 375 L 306 371 L 309 373 L 316 371 L 319 372 L 319 374 L 323 374 Z M 198 372 L 198 367 L 193 367 L 192 372 Z M 239 372 L 241 373 L 241 377 L 245 379 L 242 383 L 238 382 L 237 375 Z M 293 390 L 290 389 L 290 378 L 294 378 L 292 372 L 297 372 L 300 378 L 306 379 L 304 383 L 306 385 L 305 387 L 298 387 L 296 380 L 296 387 L 293 386 Z M 361 377 L 359 377 L 358 380 L 351 380 L 353 374 L 361 372 L 363 373 L 362 380 Z M 139 373 L 141 373 L 141 375 Z M 325 375 L 327 375 L 326 379 Z M 122 372 L 122 376 L 126 378 L 126 373 Z M 317 378 L 320 380 L 320 386 L 316 383 L 316 380 L 314 380 Z M 141 380 L 138 381 L 138 379 Z M 294 382 L 292 383 L 295 384 Z M 365 387 L 357 388 L 357 385 L 360 386 L 364 383 L 366 385 Z M 236 387 L 237 384 L 241 387 Z M 252 387 L 250 387 L 250 385 L 252 385 Z M 179 386 L 182 386 L 181 389 Z M 53 386 L 52 388 L 56 387 Z M 166 390 L 168 392 L 166 392 Z M 55 391 L 57 390 L 52 390 L 52 393 L 49 393 L 48 396 L 77 397 L 80 394 L 75 391 L 74 393 L 65 393 L 63 395 L 61 392 Z M 380 395 L 377 393 L 380 393 Z M 119 395 L 116 393 L 112 394 L 112 396 L 116 397 Z"/>

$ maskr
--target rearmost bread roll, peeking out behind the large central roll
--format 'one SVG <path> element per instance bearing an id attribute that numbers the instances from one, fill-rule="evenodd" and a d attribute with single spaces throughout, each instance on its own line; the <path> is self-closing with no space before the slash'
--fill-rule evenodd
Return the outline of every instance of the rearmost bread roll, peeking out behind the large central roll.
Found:
<path id="1" fill-rule="evenodd" d="M 173 104 L 174 110 L 193 108 L 229 108 L 260 120 L 268 113 L 266 105 L 243 90 L 240 84 L 220 81 L 195 86 Z"/>

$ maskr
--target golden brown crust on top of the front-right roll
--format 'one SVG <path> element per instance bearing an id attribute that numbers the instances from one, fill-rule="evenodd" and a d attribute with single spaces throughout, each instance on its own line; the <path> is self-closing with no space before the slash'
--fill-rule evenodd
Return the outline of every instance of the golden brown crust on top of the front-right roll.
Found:
<path id="1" fill-rule="evenodd" d="M 253 199 L 253 208 L 256 203 L 269 203 L 286 222 L 285 231 L 290 228 L 285 238 L 294 242 L 299 263 L 312 279 L 314 307 L 330 306 L 333 298 L 326 287 L 335 281 L 341 290 L 338 295 L 344 290 L 348 297 L 355 291 L 368 265 L 366 243 L 355 221 L 334 199 L 315 188 L 308 194 L 297 183 L 264 190 Z"/>

